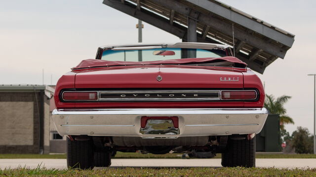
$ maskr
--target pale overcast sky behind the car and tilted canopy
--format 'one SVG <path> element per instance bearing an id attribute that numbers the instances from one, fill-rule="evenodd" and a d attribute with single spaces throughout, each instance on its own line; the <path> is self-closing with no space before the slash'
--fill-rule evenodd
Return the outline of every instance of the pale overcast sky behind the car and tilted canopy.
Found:
<path id="1" fill-rule="evenodd" d="M 313 132 L 313 78 L 316 73 L 315 0 L 222 0 L 239 10 L 295 34 L 285 59 L 276 59 L 258 76 L 266 92 L 290 95 L 285 105 L 295 125 Z M 137 42 L 137 19 L 102 0 L 0 0 L 0 84 L 56 84 L 98 46 Z M 179 38 L 145 23 L 143 42 Z M 52 81 L 51 81 L 52 75 Z"/>

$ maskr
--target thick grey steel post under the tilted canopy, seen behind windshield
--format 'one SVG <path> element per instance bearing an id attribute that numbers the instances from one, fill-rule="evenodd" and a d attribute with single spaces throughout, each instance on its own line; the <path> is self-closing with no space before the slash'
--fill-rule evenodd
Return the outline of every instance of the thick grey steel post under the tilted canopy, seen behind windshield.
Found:
<path id="1" fill-rule="evenodd" d="M 188 17 L 188 42 L 197 42 L 197 21 Z M 197 50 L 189 49 L 188 58 L 197 58 Z"/>

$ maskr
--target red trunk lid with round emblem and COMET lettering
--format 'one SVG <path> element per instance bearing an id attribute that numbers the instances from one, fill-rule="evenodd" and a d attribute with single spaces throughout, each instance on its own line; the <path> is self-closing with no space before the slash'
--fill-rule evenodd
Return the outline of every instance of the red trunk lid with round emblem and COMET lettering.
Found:
<path id="1" fill-rule="evenodd" d="M 75 88 L 243 88 L 242 72 L 232 69 L 181 66 L 118 68 L 78 71 Z M 161 81 L 158 81 L 158 76 L 162 77 Z"/>

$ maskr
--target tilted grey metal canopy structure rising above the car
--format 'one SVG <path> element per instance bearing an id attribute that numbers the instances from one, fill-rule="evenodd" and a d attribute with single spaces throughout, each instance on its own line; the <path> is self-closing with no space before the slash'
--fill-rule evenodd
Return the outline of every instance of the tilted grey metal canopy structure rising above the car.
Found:
<path id="1" fill-rule="evenodd" d="M 103 0 L 103 3 L 186 42 L 235 46 L 236 57 L 259 73 L 277 58 L 284 59 L 294 42 L 293 34 L 216 0 Z"/>

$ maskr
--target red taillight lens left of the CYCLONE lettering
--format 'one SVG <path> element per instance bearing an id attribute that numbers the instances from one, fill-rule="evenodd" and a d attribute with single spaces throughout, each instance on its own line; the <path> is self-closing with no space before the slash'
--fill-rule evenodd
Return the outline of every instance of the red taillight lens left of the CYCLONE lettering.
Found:
<path id="1" fill-rule="evenodd" d="M 97 100 L 98 94 L 97 92 L 64 92 L 63 93 L 64 100 Z"/>

